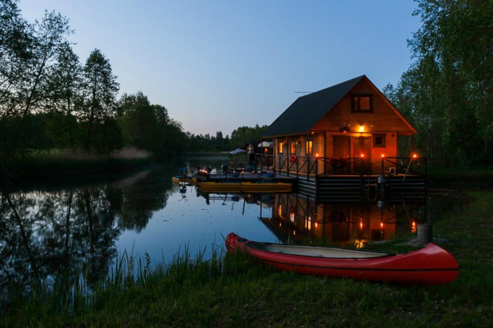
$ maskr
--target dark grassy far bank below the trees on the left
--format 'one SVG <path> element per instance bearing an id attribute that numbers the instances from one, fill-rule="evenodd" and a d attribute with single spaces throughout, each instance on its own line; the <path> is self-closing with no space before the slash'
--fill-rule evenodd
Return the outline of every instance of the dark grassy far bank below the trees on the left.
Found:
<path id="1" fill-rule="evenodd" d="M 151 159 L 150 153 L 128 148 L 110 154 L 32 151 L 13 159 L 11 174 L 16 179 L 26 179 L 122 172 L 148 164 Z"/>

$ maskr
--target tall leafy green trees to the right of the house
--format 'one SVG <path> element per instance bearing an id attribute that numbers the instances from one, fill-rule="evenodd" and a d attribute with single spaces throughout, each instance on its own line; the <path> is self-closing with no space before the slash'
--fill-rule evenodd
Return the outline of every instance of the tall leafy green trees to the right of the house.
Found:
<path id="1" fill-rule="evenodd" d="M 418 130 L 416 145 L 441 165 L 492 164 L 493 2 L 419 0 L 415 62 L 383 90 Z"/>

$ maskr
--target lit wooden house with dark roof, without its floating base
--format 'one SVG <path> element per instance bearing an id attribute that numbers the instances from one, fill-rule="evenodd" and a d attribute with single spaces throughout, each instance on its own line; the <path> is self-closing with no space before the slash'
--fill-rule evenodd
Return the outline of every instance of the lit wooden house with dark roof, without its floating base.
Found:
<path id="1" fill-rule="evenodd" d="M 398 138 L 415 133 L 361 75 L 297 98 L 261 136 L 274 142 L 274 166 L 280 173 L 310 175 L 316 169 L 317 174 L 378 175 L 392 168 L 383 158 L 398 156 Z M 317 158 L 324 160 L 313 160 Z"/>

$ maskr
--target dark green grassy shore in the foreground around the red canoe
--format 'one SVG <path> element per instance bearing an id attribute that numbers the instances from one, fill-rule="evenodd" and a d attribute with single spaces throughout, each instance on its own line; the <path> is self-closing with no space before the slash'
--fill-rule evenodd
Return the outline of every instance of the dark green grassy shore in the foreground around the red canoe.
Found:
<path id="1" fill-rule="evenodd" d="M 444 214 L 435 236 L 460 265 L 443 286 L 401 286 L 280 272 L 246 255 L 193 261 L 185 248 L 169 265 L 124 255 L 106 282 L 59 282 L 2 308 L 2 326 L 109 327 L 492 327 L 493 192 Z M 397 242 L 372 245 L 402 251 Z M 137 276 L 129 272 L 137 267 Z M 72 286 L 69 290 L 67 286 Z M 86 289 L 91 290 L 85 293 Z M 35 289 L 36 290 L 36 289 Z"/>

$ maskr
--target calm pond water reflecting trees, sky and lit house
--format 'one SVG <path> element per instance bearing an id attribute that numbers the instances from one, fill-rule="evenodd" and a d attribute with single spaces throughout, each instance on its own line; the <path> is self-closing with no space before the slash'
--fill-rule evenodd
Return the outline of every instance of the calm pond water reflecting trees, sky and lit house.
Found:
<path id="1" fill-rule="evenodd" d="M 190 160 L 192 167 L 199 162 L 219 168 L 228 160 Z M 174 186 L 176 172 L 174 165 L 158 165 L 124 176 L 26 185 L 11 194 L 20 220 L 1 197 L 2 288 L 81 270 L 94 283 L 125 250 L 161 262 L 187 245 L 207 257 L 231 231 L 258 241 L 322 239 L 361 249 L 368 241 L 416 233 L 426 219 L 420 201 L 321 205 L 297 194 L 206 195 Z"/>

